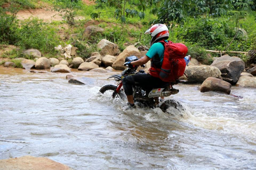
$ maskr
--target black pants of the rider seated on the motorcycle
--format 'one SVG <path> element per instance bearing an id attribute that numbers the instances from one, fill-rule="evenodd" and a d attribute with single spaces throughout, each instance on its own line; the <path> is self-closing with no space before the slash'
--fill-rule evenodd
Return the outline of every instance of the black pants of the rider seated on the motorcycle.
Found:
<path id="1" fill-rule="evenodd" d="M 129 75 L 123 78 L 122 82 L 127 96 L 133 94 L 132 86 L 144 87 L 145 89 L 151 90 L 152 88 L 162 88 L 169 84 L 168 82 L 163 82 L 161 79 L 145 73 Z"/>

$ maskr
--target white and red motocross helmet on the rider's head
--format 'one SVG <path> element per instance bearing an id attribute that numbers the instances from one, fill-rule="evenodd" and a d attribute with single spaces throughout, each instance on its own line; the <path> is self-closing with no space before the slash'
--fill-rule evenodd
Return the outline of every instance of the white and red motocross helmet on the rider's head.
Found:
<path id="1" fill-rule="evenodd" d="M 144 34 L 150 34 L 152 39 L 150 41 L 150 46 L 157 42 L 159 39 L 168 39 L 169 38 L 169 30 L 165 24 L 155 24 L 150 29 L 148 29 Z"/>

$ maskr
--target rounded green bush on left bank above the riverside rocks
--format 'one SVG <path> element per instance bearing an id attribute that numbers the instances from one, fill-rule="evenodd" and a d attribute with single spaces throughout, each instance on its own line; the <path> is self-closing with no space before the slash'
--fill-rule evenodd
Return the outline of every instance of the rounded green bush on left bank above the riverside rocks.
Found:
<path id="1" fill-rule="evenodd" d="M 37 18 L 22 21 L 14 35 L 16 45 L 22 49 L 34 48 L 41 52 L 53 52 L 59 43 L 54 27 Z"/>

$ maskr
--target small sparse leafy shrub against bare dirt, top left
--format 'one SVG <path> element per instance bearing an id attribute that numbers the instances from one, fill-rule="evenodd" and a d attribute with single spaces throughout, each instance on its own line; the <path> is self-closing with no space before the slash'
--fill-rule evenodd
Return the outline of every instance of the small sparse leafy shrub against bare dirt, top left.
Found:
<path id="1" fill-rule="evenodd" d="M 75 24 L 75 16 L 77 10 L 81 8 L 81 0 L 54 0 L 54 11 L 59 12 L 59 14 L 65 19 L 69 26 Z"/>

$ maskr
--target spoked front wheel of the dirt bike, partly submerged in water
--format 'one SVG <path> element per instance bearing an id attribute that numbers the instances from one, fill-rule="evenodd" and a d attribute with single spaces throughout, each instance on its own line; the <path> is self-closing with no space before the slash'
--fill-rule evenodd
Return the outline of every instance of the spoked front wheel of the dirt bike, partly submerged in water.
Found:
<path id="1" fill-rule="evenodd" d="M 100 92 L 108 97 L 108 98 L 120 98 L 122 100 L 125 99 L 125 94 L 122 90 L 119 91 L 119 93 L 116 93 L 117 86 L 108 84 L 101 87 Z"/>

